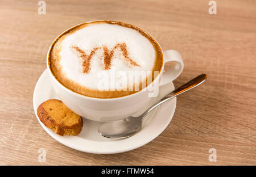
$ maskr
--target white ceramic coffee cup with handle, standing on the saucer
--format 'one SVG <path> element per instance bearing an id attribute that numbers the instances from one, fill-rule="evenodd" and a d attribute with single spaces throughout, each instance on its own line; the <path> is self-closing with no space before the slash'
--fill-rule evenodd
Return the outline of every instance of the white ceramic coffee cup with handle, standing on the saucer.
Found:
<path id="1" fill-rule="evenodd" d="M 68 31 L 68 29 L 66 31 Z M 65 33 L 65 31 L 63 33 Z M 61 36 L 63 33 L 61 33 L 59 36 Z M 58 37 L 55 40 L 57 40 Z M 152 37 L 152 39 L 154 39 L 154 37 Z M 148 96 L 150 92 L 147 89 L 148 86 L 141 91 L 135 92 L 134 94 L 109 99 L 84 96 L 73 92 L 72 90 L 69 90 L 67 87 L 61 85 L 61 83 L 57 81 L 57 79 L 52 74 L 48 62 L 49 51 L 51 50 L 51 48 L 52 45 L 49 48 L 47 54 L 47 69 L 49 73 L 49 78 L 52 83 L 52 87 L 55 90 L 57 96 L 59 96 L 59 99 L 69 109 L 71 109 L 78 115 L 93 121 L 121 120 L 138 112 L 140 109 L 143 108 L 144 105 L 146 105 L 146 103 L 150 102 L 150 99 L 152 99 L 152 97 Z M 163 51 L 160 45 L 159 48 L 163 54 L 163 66 L 158 76 L 154 79 L 152 83 L 157 82 L 159 83 L 160 87 L 174 81 L 174 79 L 176 79 L 182 72 L 184 64 L 179 52 L 177 52 L 176 50 Z M 176 64 L 172 68 L 164 70 L 164 64 L 170 61 L 176 61 Z"/>

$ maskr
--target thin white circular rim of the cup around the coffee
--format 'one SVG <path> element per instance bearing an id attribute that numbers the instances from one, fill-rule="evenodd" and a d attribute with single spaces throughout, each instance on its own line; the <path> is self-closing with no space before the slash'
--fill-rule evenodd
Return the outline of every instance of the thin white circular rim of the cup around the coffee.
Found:
<path id="1" fill-rule="evenodd" d="M 97 97 L 92 97 L 92 96 L 86 96 L 86 95 L 82 95 L 82 94 L 79 94 L 78 92 L 75 92 L 75 91 L 72 91 L 71 89 L 67 88 L 66 86 L 64 86 L 56 77 L 55 75 L 52 73 L 52 70 L 49 66 L 49 54 L 50 54 L 50 51 L 52 50 L 52 47 L 53 45 L 56 43 L 57 39 L 59 39 L 60 36 L 64 35 L 64 33 L 66 33 L 67 31 L 69 31 L 70 29 L 72 28 L 76 28 L 77 26 L 81 26 L 82 24 L 86 24 L 86 23 L 94 23 L 94 22 L 113 22 L 113 23 L 123 23 L 123 24 L 126 24 L 127 26 L 131 26 L 133 28 L 138 28 L 139 30 L 141 30 L 142 32 L 146 33 L 148 36 L 151 37 L 152 40 L 154 40 L 154 42 L 158 45 L 159 49 L 160 49 L 160 53 L 162 55 L 162 66 L 160 68 L 160 71 L 158 73 L 158 75 L 156 76 L 156 78 L 154 79 L 154 81 L 152 81 L 149 85 L 147 85 L 146 87 L 144 87 L 142 90 L 139 90 L 137 92 L 134 92 L 133 94 L 129 94 L 129 95 L 125 95 L 125 96 L 120 96 L 120 97 L 115 97 L 115 98 L 97 98 Z M 88 21 L 88 22 L 84 22 L 84 23 L 80 23 L 80 24 L 76 24 L 75 26 L 72 26 L 68 29 L 66 29 L 65 31 L 61 32 L 51 43 L 49 49 L 48 49 L 48 52 L 47 52 L 47 57 L 46 57 L 46 64 L 47 64 L 47 69 L 48 69 L 48 73 L 51 74 L 51 76 L 53 77 L 53 79 L 57 82 L 57 84 L 60 86 L 60 87 L 63 87 L 64 90 L 67 90 L 69 93 L 71 94 L 75 94 L 76 96 L 79 96 L 80 98 L 86 98 L 86 99 L 90 99 L 90 100 L 105 100 L 105 101 L 110 101 L 110 100 L 119 100 L 119 99 L 125 99 L 125 98 L 131 98 L 133 97 L 134 95 L 138 95 L 140 92 L 142 91 L 145 91 L 147 89 L 148 86 L 152 85 L 152 83 L 154 83 L 156 80 L 159 80 L 159 77 L 160 75 L 162 74 L 163 72 L 163 68 L 164 68 L 164 58 L 163 58 L 163 50 L 161 48 L 161 46 L 159 45 L 158 41 L 156 41 L 156 39 L 150 35 L 150 33 L 144 31 L 143 29 L 137 27 L 137 26 L 134 26 L 132 24 L 129 24 L 129 23 L 125 23 L 125 22 L 119 22 L 117 20 L 91 20 L 91 21 Z"/>

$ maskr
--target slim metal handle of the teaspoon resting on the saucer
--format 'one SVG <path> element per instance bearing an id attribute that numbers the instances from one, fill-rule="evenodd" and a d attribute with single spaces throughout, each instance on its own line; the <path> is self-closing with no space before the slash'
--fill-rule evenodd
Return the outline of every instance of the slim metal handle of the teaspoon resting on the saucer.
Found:
<path id="1" fill-rule="evenodd" d="M 188 90 L 191 90 L 192 88 L 195 88 L 196 86 L 199 86 L 201 83 L 206 81 L 207 74 L 200 74 L 199 76 L 193 78 L 191 81 L 185 83 L 184 85 L 180 86 L 179 88 L 176 88 L 174 91 L 170 92 L 170 94 L 164 96 L 164 98 L 160 99 L 158 102 L 153 104 L 150 108 L 148 108 L 145 112 L 143 117 L 145 117 L 150 111 L 152 111 L 154 108 L 158 107 L 160 104 L 174 98 L 175 96 L 182 94 Z"/>

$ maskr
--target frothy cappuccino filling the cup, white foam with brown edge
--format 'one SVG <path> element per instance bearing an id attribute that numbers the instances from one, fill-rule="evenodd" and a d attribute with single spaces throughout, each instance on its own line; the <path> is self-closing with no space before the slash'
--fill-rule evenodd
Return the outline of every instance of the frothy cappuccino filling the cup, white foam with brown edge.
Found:
<path id="1" fill-rule="evenodd" d="M 142 29 L 105 20 L 62 33 L 49 49 L 48 64 L 69 90 L 94 98 L 117 98 L 141 91 L 154 81 L 162 69 L 163 54 Z M 130 73 L 143 72 L 144 77 L 129 79 Z"/>

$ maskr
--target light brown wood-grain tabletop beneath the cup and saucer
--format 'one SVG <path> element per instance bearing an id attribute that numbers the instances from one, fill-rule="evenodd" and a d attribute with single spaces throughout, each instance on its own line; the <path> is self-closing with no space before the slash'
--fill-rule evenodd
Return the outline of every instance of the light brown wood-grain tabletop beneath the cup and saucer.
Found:
<path id="1" fill-rule="evenodd" d="M 0 165 L 256 165 L 256 2 L 0 1 Z M 201 73 L 204 85 L 180 95 L 170 125 L 149 144 L 126 153 L 82 153 L 53 140 L 32 107 L 51 41 L 97 19 L 134 24 L 184 60 L 180 86 Z M 38 149 L 47 151 L 38 162 Z M 208 150 L 217 150 L 209 162 Z"/>

